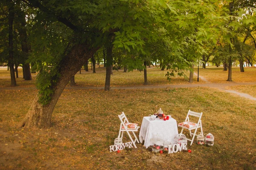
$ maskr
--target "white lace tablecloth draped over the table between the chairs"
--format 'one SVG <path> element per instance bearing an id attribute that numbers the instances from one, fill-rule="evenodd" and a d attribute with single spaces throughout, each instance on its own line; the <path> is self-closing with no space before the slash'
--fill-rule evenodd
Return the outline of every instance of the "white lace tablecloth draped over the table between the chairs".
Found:
<path id="1" fill-rule="evenodd" d="M 159 138 L 174 144 L 174 137 L 177 134 L 178 127 L 175 119 L 170 118 L 169 120 L 164 121 L 163 119 L 156 118 L 155 120 L 150 120 L 150 117 L 146 116 L 143 117 L 139 137 L 140 142 L 142 143 L 144 140 L 144 146 L 148 148 L 151 144 L 151 138 Z"/>

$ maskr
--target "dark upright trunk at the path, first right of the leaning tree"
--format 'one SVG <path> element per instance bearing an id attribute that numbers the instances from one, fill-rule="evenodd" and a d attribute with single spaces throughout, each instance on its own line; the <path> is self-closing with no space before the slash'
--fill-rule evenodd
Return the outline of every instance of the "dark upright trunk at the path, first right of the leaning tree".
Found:
<path id="1" fill-rule="evenodd" d="M 112 44 L 112 41 L 110 41 L 107 46 L 105 91 L 110 90 L 110 78 L 111 78 L 111 71 L 112 71 L 112 64 L 113 64 L 112 50 L 113 50 L 113 44 Z"/>

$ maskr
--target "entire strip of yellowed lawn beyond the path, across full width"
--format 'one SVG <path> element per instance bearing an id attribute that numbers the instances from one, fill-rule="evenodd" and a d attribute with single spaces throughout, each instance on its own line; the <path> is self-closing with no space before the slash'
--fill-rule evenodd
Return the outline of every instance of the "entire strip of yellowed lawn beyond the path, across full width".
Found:
<path id="1" fill-rule="evenodd" d="M 103 66 L 98 67 L 96 65 L 96 73 L 93 73 L 89 67 L 89 72 L 81 70 L 75 76 L 76 86 L 80 87 L 102 87 L 105 85 L 106 72 Z M 237 67 L 232 68 L 232 79 L 233 82 L 255 82 L 256 81 L 256 68 L 244 68 L 245 72 L 241 73 L 240 69 Z M 32 74 L 31 81 L 23 80 L 22 68 L 18 69 L 19 77 L 17 78 L 17 86 L 20 87 L 32 87 L 35 86 L 36 74 Z M 147 77 L 149 85 L 171 85 L 171 84 L 189 84 L 188 79 L 184 77 L 175 76 L 172 77 L 171 82 L 167 80 L 165 74 L 167 71 L 161 71 L 160 68 L 147 68 Z M 195 73 L 197 69 L 195 68 Z M 188 72 L 185 72 L 186 76 L 189 76 Z M 228 71 L 223 71 L 223 68 L 217 67 L 207 67 L 206 69 L 200 68 L 199 75 L 207 79 L 212 83 L 226 83 Z M 203 80 L 199 79 L 197 82 L 197 76 L 194 75 L 193 83 L 205 83 Z M 0 87 L 9 87 L 11 84 L 10 73 L 7 71 L 6 67 L 0 68 Z M 113 71 L 111 75 L 111 86 L 136 86 L 144 84 L 144 72 L 134 70 L 129 73 L 124 73 L 123 70 Z"/>

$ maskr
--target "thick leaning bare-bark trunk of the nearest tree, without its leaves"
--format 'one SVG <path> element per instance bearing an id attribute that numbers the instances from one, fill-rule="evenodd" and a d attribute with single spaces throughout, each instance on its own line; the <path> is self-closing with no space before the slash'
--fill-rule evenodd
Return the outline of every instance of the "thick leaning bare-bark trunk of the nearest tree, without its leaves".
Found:
<path id="1" fill-rule="evenodd" d="M 19 127 L 50 127 L 52 111 L 54 110 L 62 91 L 70 81 L 71 77 L 79 71 L 79 68 L 81 68 L 86 60 L 91 58 L 97 50 L 98 48 L 91 47 L 87 44 L 74 45 L 71 48 L 70 53 L 68 53 L 60 62 L 60 77 L 57 83 L 52 87 L 53 94 L 51 100 L 47 105 L 42 105 L 38 102 L 40 96 L 38 93 L 25 118 L 20 122 Z"/>

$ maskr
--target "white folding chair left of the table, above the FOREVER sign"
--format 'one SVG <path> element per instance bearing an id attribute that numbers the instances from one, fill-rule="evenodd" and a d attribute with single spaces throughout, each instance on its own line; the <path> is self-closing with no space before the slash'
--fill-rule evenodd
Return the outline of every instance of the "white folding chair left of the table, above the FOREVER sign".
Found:
<path id="1" fill-rule="evenodd" d="M 124 132 L 127 132 L 127 134 L 128 134 L 128 136 L 130 137 L 131 142 L 133 143 L 134 147 L 137 148 L 135 142 L 136 142 L 136 141 L 137 141 L 138 143 L 140 143 L 140 142 L 139 142 L 139 140 L 138 140 L 138 138 L 137 138 L 137 136 L 135 135 L 134 132 L 137 132 L 138 129 L 140 128 L 140 126 L 134 126 L 134 128 L 129 128 L 129 127 L 127 126 L 127 124 L 129 123 L 129 121 L 128 121 L 127 117 L 125 116 L 125 113 L 124 113 L 124 112 L 122 112 L 122 114 L 118 115 L 118 117 L 119 117 L 119 119 L 120 119 L 120 121 L 121 121 L 118 138 L 121 138 L 121 139 L 122 139 Z M 132 139 L 132 137 L 131 137 L 131 135 L 130 135 L 129 132 L 132 132 L 132 133 L 133 133 L 135 139 Z"/>

